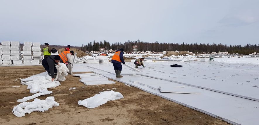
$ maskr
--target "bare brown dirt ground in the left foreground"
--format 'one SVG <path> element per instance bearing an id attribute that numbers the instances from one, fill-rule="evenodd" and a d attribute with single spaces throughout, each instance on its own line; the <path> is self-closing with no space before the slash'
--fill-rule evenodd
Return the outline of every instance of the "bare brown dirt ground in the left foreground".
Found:
<path id="1" fill-rule="evenodd" d="M 61 85 L 48 89 L 50 95 L 38 97 L 46 99 L 54 96 L 60 105 L 45 112 L 32 112 L 24 117 L 13 115 L 13 107 L 18 105 L 17 99 L 30 96 L 26 85 L 21 85 L 18 78 L 26 78 L 44 72 L 42 66 L 0 67 L 0 124 L 20 125 L 99 125 L 99 124 L 144 124 L 144 125 L 223 125 L 227 124 L 209 115 L 192 110 L 185 106 L 149 94 L 138 88 L 129 87 L 116 82 L 110 85 L 91 85 L 81 88 L 78 77 L 69 75 Z M 20 86 L 12 88 L 10 86 Z M 76 87 L 76 89 L 69 88 Z M 78 101 L 105 90 L 120 92 L 124 98 L 109 101 L 97 108 L 89 109 L 79 106 Z M 33 100 L 29 100 L 30 102 Z"/>

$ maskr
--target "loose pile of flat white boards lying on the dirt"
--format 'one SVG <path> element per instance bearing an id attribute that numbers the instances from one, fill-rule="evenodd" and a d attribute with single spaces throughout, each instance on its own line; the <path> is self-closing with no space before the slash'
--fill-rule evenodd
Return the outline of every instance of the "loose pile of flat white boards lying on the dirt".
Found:
<path id="1" fill-rule="evenodd" d="M 115 84 L 114 81 L 109 81 L 108 78 L 96 73 L 73 74 L 73 76 L 79 76 L 81 78 L 79 81 L 85 85 Z"/>

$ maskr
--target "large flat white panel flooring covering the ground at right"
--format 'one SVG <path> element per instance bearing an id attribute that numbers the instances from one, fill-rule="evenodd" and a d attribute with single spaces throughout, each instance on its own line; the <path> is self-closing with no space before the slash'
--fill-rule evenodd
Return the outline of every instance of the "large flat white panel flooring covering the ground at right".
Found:
<path id="1" fill-rule="evenodd" d="M 245 92 L 248 95 L 253 95 L 250 91 L 254 91 L 255 95 L 258 95 L 257 87 L 251 88 L 243 88 L 240 87 L 239 84 L 234 84 L 233 82 L 250 81 L 248 83 L 252 83 L 254 78 L 257 78 L 256 72 L 258 71 L 255 65 L 240 65 L 240 64 L 220 64 L 217 62 L 181 62 L 176 63 L 178 65 L 183 65 L 183 67 L 170 67 L 170 65 L 175 64 L 175 62 L 157 62 L 157 63 L 146 63 L 146 68 L 140 68 L 143 70 L 143 73 L 135 72 L 130 69 L 123 68 L 122 72 L 132 72 L 132 73 L 140 73 L 145 75 L 150 75 L 152 77 L 146 77 L 141 75 L 129 75 L 123 76 L 123 78 L 116 78 L 115 75 L 112 74 L 112 68 L 109 64 L 102 64 L 99 66 L 95 66 L 95 69 L 92 69 L 93 72 L 103 75 L 107 78 L 126 83 L 133 87 L 137 87 L 145 92 L 149 92 L 151 94 L 158 95 L 162 98 L 174 101 L 183 106 L 187 106 L 194 110 L 198 110 L 205 114 L 211 115 L 213 117 L 222 119 L 231 124 L 257 124 L 259 121 L 257 116 L 259 115 L 259 102 L 253 101 L 246 98 L 231 96 L 230 94 L 224 94 L 228 92 L 222 91 L 222 93 L 215 92 L 209 89 L 199 88 L 200 86 L 196 84 L 203 84 L 211 87 L 211 89 L 215 90 L 222 89 L 226 91 L 232 91 L 233 93 L 240 94 L 240 91 Z M 132 64 L 131 64 L 132 65 Z M 98 68 L 101 70 L 97 70 Z M 224 67 L 224 68 L 222 68 Z M 178 68 L 178 69 L 177 69 Z M 89 67 L 89 70 L 91 67 Z M 104 71 L 106 72 L 104 72 Z M 255 71 L 257 70 L 257 71 Z M 243 71 L 243 72 L 242 72 Z M 245 71 L 245 72 L 244 72 Z M 213 73 L 213 74 L 212 74 Z M 239 73 L 239 75 L 238 75 Z M 188 75 L 188 77 L 186 76 Z M 206 77 L 202 77 L 205 75 Z M 235 76 L 232 76 L 235 75 Z M 238 76 L 237 76 L 238 75 Z M 194 77 L 198 76 L 198 77 Z M 231 77 L 232 76 L 232 77 Z M 237 78 L 240 76 L 246 76 L 242 78 Z M 226 82 L 219 81 L 219 79 L 223 79 L 229 77 Z M 234 78 L 233 78 L 234 77 Z M 254 78 L 253 78 L 254 77 Z M 160 78 L 160 79 L 157 79 Z M 181 79 L 180 79 L 181 78 Z M 206 80 L 210 78 L 210 80 Z M 165 79 L 165 80 L 161 80 Z M 173 79 L 171 81 L 168 81 Z M 175 80 L 177 79 L 177 81 Z M 181 80 L 181 82 L 178 81 Z M 205 81 L 201 81 L 204 80 Z M 216 79 L 216 80 L 211 80 Z M 133 82 L 129 82 L 129 80 L 133 80 Z M 255 79 L 254 81 L 256 81 Z M 176 81 L 176 82 L 172 82 Z M 186 84 L 192 84 L 192 86 L 187 86 L 182 83 L 186 81 Z M 217 81 L 210 83 L 209 81 Z M 137 82 L 137 83 L 136 83 Z M 141 84 L 139 84 L 141 83 Z M 223 85 L 222 85 L 223 84 Z M 257 83 L 253 82 L 253 84 L 257 85 Z M 180 94 L 180 93 L 162 93 L 160 92 L 159 86 L 185 86 L 184 91 L 187 92 L 198 92 L 200 94 Z M 242 84 L 244 85 L 244 84 Z M 251 84 L 252 85 L 252 84 Z M 149 86 L 149 87 L 148 87 Z M 153 87 L 153 88 L 151 88 Z M 154 89 L 155 88 L 155 89 Z M 243 90 L 239 90 L 238 88 L 243 88 Z M 255 89 L 255 90 L 254 90 Z"/>

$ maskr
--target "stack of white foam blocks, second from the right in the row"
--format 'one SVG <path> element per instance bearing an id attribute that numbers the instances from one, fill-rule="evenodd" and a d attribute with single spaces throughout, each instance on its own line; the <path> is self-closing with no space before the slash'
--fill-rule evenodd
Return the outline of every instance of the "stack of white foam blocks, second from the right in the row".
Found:
<path id="1" fill-rule="evenodd" d="M 31 64 L 32 59 L 32 42 L 23 42 L 23 64 Z"/>

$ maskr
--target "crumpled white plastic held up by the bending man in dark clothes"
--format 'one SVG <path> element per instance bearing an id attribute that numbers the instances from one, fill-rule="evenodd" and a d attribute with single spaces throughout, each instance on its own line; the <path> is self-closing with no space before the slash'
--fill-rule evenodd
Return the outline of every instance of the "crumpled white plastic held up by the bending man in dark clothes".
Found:
<path id="1" fill-rule="evenodd" d="M 59 65 L 56 65 L 56 68 L 58 70 L 57 76 L 55 78 L 55 81 L 65 81 L 66 76 L 68 75 L 68 67 L 66 67 L 66 64 L 64 63 L 59 63 Z"/>

